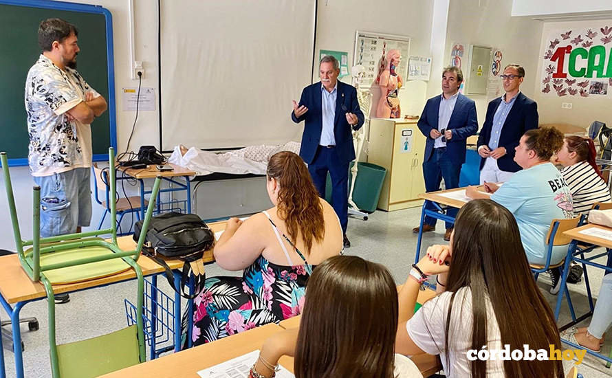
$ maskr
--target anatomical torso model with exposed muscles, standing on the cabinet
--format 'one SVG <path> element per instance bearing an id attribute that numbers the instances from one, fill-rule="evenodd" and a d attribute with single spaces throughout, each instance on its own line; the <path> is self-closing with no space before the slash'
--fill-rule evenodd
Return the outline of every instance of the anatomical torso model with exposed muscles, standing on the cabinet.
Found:
<path id="1" fill-rule="evenodd" d="M 404 84 L 402 77 L 395 72 L 400 66 L 402 56 L 400 51 L 391 49 L 386 56 L 380 58 L 376 82 L 380 86 L 380 100 L 376 109 L 378 118 L 400 118 L 400 98 L 397 97 Z"/>

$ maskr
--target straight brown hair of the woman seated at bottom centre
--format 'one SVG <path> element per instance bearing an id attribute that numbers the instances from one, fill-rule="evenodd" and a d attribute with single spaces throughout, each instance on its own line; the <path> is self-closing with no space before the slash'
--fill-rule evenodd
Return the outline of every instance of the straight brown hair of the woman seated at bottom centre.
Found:
<path id="1" fill-rule="evenodd" d="M 308 280 L 296 378 L 393 378 L 397 311 L 385 267 L 358 256 L 323 261 Z"/>

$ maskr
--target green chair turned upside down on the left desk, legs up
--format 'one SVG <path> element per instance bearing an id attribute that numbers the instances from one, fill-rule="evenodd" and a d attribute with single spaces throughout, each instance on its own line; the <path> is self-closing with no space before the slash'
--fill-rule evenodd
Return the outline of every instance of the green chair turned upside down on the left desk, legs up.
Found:
<path id="1" fill-rule="evenodd" d="M 144 236 L 155 208 L 155 198 L 160 189 L 161 177 L 155 179 L 151 200 L 146 210 L 138 245 L 133 251 L 123 251 L 117 244 L 117 225 L 78 234 L 40 237 L 41 188 L 34 186 L 34 225 L 31 241 L 23 241 L 17 221 L 17 210 L 13 197 L 6 153 L 0 153 L 8 205 L 12 221 L 15 244 L 21 267 L 32 281 L 40 281 L 47 293 L 49 311 L 49 344 L 52 374 L 54 378 L 97 377 L 120 368 L 146 361 L 142 308 L 144 280 L 137 260 L 140 256 Z M 109 148 L 109 166 L 115 166 L 115 152 Z M 109 169 L 110 198 L 116 197 L 115 170 Z M 115 201 L 111 201 L 111 219 L 116 219 Z M 111 234 L 107 242 L 101 235 Z M 24 249 L 26 248 L 26 249 Z M 119 271 L 133 269 L 138 281 L 136 324 L 88 340 L 56 345 L 54 284 L 79 282 Z M 112 348 L 109 348 L 112 346 Z"/>

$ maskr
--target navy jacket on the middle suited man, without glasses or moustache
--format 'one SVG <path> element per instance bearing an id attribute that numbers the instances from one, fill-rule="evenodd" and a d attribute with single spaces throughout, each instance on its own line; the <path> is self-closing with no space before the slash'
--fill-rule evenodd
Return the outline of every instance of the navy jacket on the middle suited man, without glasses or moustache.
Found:
<path id="1" fill-rule="evenodd" d="M 441 95 L 427 100 L 425 109 L 417 122 L 419 130 L 427 138 L 425 143 L 425 155 L 423 161 L 427 162 L 433 155 L 435 140 L 430 136 L 432 129 L 438 129 L 438 112 L 440 109 Z M 474 100 L 459 93 L 455 109 L 452 109 L 447 130 L 452 131 L 452 138 L 446 141 L 446 154 L 453 162 L 461 165 L 466 162 L 466 139 L 476 134 L 478 130 L 478 118 L 476 116 L 476 104 Z"/>

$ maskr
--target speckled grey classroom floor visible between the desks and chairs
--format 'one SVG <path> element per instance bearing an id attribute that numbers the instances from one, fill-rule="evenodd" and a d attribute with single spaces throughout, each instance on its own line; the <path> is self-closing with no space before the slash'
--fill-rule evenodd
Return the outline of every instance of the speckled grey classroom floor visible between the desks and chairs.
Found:
<path id="1" fill-rule="evenodd" d="M 378 211 L 369 216 L 368 221 L 351 218 L 347 232 L 352 247 L 345 250 L 346 254 L 362 256 L 368 260 L 381 263 L 389 268 L 395 281 L 400 284 L 406 280 L 410 265 L 415 259 L 416 235 L 411 232 L 420 219 L 420 208 L 400 210 L 395 212 Z M 423 246 L 434 243 L 443 243 L 444 225 L 438 224 L 436 232 L 424 235 Z M 207 276 L 240 275 L 240 272 L 228 273 L 216 265 L 207 267 Z M 602 274 L 593 271 L 591 277 L 592 287 L 598 292 Z M 160 287 L 166 293 L 171 293 L 163 278 L 160 278 Z M 545 298 L 554 305 L 555 296 L 548 293 L 548 277 L 540 278 L 540 287 Z M 570 285 L 573 293 L 572 299 L 579 312 L 588 309 L 584 285 Z M 124 298 L 133 300 L 135 287 L 133 282 L 111 285 L 100 289 L 93 289 L 74 293 L 67 304 L 56 306 L 56 323 L 58 343 L 81 340 L 83 338 L 100 335 L 120 329 L 125 326 Z M 519 309 L 517 309 L 518 311 Z M 40 330 L 29 332 L 27 326 L 22 326 L 23 341 L 25 342 L 25 376 L 50 377 L 49 348 L 47 341 L 47 309 L 46 301 L 30 303 L 21 311 L 22 317 L 36 316 L 39 318 Z M 6 320 L 6 313 L 0 312 L 0 318 Z M 569 311 L 564 304 L 560 322 L 569 318 Z M 607 353 L 612 346 L 609 337 L 604 351 Z M 14 377 L 14 358 L 12 352 L 4 351 L 7 366 L 7 376 Z M 569 369 L 573 362 L 566 362 Z M 602 362 L 592 357 L 585 357 L 584 362 L 578 366 L 579 372 L 585 378 L 611 377 L 612 370 L 607 369 Z"/>

